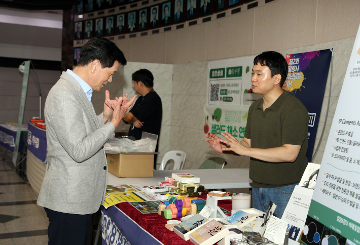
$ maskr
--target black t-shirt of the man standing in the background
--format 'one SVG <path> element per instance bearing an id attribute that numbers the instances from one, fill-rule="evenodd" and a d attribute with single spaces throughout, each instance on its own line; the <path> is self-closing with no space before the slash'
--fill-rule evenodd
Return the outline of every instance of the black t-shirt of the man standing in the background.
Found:
<path id="1" fill-rule="evenodd" d="M 143 122 L 143 126 L 138 129 L 131 125 L 129 136 L 133 136 L 136 140 L 139 140 L 141 139 L 142 132 L 160 135 L 162 103 L 159 95 L 155 91 L 150 92 L 144 97 L 140 96 L 130 112 Z"/>

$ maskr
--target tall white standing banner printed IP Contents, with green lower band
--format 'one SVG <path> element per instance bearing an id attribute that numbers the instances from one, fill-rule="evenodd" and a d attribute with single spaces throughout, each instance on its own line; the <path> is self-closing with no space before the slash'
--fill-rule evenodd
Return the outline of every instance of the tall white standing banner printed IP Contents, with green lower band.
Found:
<path id="1" fill-rule="evenodd" d="M 323 153 L 302 244 L 360 244 L 359 91 L 360 28 Z"/>

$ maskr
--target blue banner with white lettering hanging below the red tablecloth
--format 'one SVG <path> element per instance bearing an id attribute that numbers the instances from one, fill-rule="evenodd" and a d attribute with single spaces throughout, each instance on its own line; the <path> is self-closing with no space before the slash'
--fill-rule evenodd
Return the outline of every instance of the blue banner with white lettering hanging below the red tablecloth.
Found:
<path id="1" fill-rule="evenodd" d="M 103 245 L 162 244 L 116 206 L 101 206 L 101 236 Z"/>

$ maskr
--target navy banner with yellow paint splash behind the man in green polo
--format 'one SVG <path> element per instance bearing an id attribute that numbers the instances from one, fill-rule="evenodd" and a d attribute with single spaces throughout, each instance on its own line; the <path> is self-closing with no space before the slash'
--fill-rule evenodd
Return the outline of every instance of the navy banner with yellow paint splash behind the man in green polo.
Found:
<path id="1" fill-rule="evenodd" d="M 303 102 L 309 112 L 307 159 L 310 162 L 315 146 L 322 101 L 328 80 L 332 51 L 330 49 L 286 55 L 289 71 L 283 89 Z M 296 130 L 296 129 L 294 129 Z"/>

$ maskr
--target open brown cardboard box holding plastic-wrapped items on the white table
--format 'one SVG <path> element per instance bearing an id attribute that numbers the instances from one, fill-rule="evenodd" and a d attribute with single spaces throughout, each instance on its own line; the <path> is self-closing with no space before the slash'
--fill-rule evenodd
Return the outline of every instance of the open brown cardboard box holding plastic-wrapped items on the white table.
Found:
<path id="1" fill-rule="evenodd" d="M 107 153 L 107 169 L 119 178 L 153 177 L 155 154 L 159 152 Z"/>

